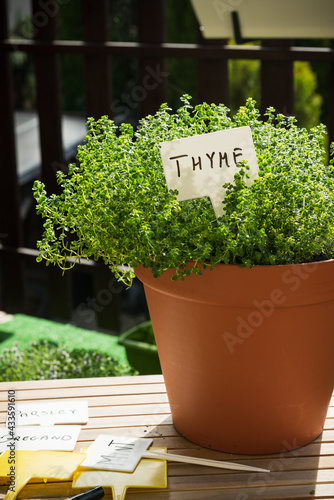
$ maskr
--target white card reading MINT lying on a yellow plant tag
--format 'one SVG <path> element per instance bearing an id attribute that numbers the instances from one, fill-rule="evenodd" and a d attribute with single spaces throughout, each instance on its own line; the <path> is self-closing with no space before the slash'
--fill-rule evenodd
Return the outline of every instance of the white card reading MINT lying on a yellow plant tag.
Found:
<path id="1" fill-rule="evenodd" d="M 152 439 L 100 434 L 86 450 L 80 467 L 133 472 Z"/>

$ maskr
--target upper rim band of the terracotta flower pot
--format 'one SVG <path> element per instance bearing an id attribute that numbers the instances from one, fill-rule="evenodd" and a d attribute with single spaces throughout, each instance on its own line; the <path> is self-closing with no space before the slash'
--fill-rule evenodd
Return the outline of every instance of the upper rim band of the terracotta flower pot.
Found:
<path id="1" fill-rule="evenodd" d="M 191 274 L 176 281 L 171 279 L 175 269 L 166 270 L 158 278 L 142 265 L 134 271 L 145 289 L 223 307 L 254 308 L 254 301 L 266 300 L 277 307 L 334 301 L 334 259 L 252 268 L 218 264 L 212 270 L 207 267 L 201 275 Z"/>

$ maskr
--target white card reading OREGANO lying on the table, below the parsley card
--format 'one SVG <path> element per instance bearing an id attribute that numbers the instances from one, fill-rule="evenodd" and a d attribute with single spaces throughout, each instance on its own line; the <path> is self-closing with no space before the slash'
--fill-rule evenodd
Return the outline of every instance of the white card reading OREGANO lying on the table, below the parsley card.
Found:
<path id="1" fill-rule="evenodd" d="M 9 431 L 0 428 L 0 451 L 60 450 L 73 451 L 81 430 L 80 425 L 22 426 Z"/>

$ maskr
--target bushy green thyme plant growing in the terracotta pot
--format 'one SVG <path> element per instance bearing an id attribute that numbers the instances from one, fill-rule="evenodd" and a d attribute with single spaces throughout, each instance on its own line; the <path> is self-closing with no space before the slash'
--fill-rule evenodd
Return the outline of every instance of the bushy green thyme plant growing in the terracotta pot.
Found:
<path id="1" fill-rule="evenodd" d="M 187 95 L 176 113 L 163 104 L 135 132 L 106 116 L 87 125 L 79 166 L 57 173 L 62 193 L 48 196 L 35 182 L 37 213 L 45 219 L 39 260 L 65 270 L 80 259 L 102 259 L 131 284 L 139 264 L 156 277 L 175 268 L 177 279 L 219 263 L 333 258 L 334 172 L 333 160 L 324 163 L 324 126 L 307 131 L 273 108 L 262 119 L 252 99 L 230 116 L 222 104 L 192 106 Z M 178 202 L 166 185 L 159 143 L 246 125 L 259 165 L 251 187 L 242 164 L 225 186 L 219 220 L 206 197 Z"/>

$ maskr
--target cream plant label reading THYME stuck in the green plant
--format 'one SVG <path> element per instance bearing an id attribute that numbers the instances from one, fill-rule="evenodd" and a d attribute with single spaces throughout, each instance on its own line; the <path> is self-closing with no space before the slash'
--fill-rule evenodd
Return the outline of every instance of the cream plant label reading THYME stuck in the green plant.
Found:
<path id="1" fill-rule="evenodd" d="M 194 135 L 160 145 L 168 189 L 178 190 L 178 201 L 209 196 L 217 218 L 224 213 L 223 185 L 234 182 L 241 160 L 246 160 L 250 167 L 246 185 L 258 177 L 250 127 Z"/>

